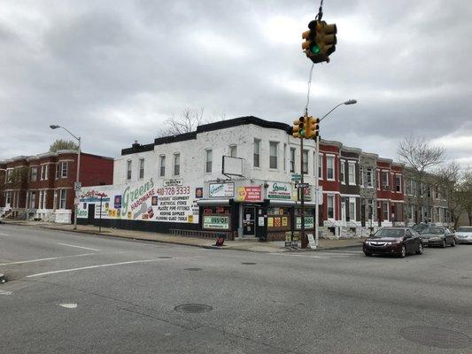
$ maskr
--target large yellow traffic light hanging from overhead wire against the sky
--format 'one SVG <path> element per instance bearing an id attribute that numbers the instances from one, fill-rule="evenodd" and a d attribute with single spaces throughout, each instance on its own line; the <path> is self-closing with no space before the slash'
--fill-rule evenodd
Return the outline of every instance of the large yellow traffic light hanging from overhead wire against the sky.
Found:
<path id="1" fill-rule="evenodd" d="M 313 20 L 308 24 L 309 31 L 302 34 L 306 41 L 302 43 L 306 57 L 313 63 L 329 63 L 329 55 L 336 50 L 336 24 L 327 24 L 326 21 Z"/>

